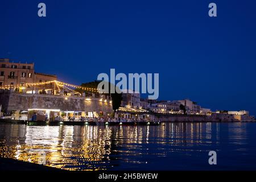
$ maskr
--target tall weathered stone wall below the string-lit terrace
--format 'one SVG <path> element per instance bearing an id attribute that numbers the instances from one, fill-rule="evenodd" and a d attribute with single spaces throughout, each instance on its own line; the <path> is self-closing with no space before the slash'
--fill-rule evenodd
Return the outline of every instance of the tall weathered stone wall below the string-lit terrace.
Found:
<path id="1" fill-rule="evenodd" d="M 112 104 L 106 98 L 54 96 L 51 94 L 0 93 L 2 110 L 60 109 L 62 111 L 104 111 L 111 113 Z"/>

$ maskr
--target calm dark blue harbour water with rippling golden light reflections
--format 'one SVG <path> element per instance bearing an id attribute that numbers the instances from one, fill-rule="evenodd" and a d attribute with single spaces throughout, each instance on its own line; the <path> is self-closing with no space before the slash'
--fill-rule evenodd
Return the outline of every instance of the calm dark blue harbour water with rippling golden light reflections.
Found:
<path id="1" fill-rule="evenodd" d="M 0 124 L 0 156 L 68 170 L 256 169 L 256 123 Z M 217 151 L 217 165 L 208 152 Z"/>

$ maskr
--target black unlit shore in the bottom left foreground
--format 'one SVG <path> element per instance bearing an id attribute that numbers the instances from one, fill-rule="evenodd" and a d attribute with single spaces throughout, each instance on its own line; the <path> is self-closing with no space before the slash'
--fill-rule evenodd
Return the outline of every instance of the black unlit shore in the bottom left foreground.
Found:
<path id="1" fill-rule="evenodd" d="M 0 158 L 0 171 L 63 171 L 61 169 L 43 166 L 20 160 Z"/>

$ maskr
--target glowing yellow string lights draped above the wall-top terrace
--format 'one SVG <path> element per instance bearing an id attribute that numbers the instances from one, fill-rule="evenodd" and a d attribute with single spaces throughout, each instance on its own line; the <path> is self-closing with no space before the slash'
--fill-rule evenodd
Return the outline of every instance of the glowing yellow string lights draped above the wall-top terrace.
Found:
<path id="1" fill-rule="evenodd" d="M 25 83 L 25 84 L 19 84 L 19 85 L 3 85 L 3 86 L 0 87 L 0 89 L 11 89 L 11 88 L 26 89 L 26 88 L 31 88 L 32 86 L 36 87 L 36 86 L 52 85 L 52 84 L 56 84 L 56 86 L 59 90 L 60 90 L 60 87 L 61 87 L 61 88 L 67 89 L 67 90 L 69 90 L 71 92 L 75 92 L 75 93 L 80 93 L 80 92 L 77 92 L 75 89 L 81 89 L 81 90 L 85 90 L 85 91 L 88 91 L 88 92 L 98 92 L 98 90 L 95 89 L 95 88 L 88 88 L 88 87 L 84 87 L 84 86 L 68 84 L 66 82 L 57 81 L 57 80 L 45 81 L 45 82 L 35 82 L 35 83 Z M 69 87 L 75 88 L 75 89 L 71 89 Z"/>

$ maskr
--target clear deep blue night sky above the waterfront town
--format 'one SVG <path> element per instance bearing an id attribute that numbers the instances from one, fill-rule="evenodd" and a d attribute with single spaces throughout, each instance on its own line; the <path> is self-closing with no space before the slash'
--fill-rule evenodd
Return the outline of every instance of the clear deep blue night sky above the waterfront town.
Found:
<path id="1" fill-rule="evenodd" d="M 38 3 L 47 6 L 39 18 Z M 210 2 L 217 18 L 208 16 Z M 256 2 L 0 1 L 0 57 L 80 84 L 159 73 L 159 99 L 256 114 Z"/>

